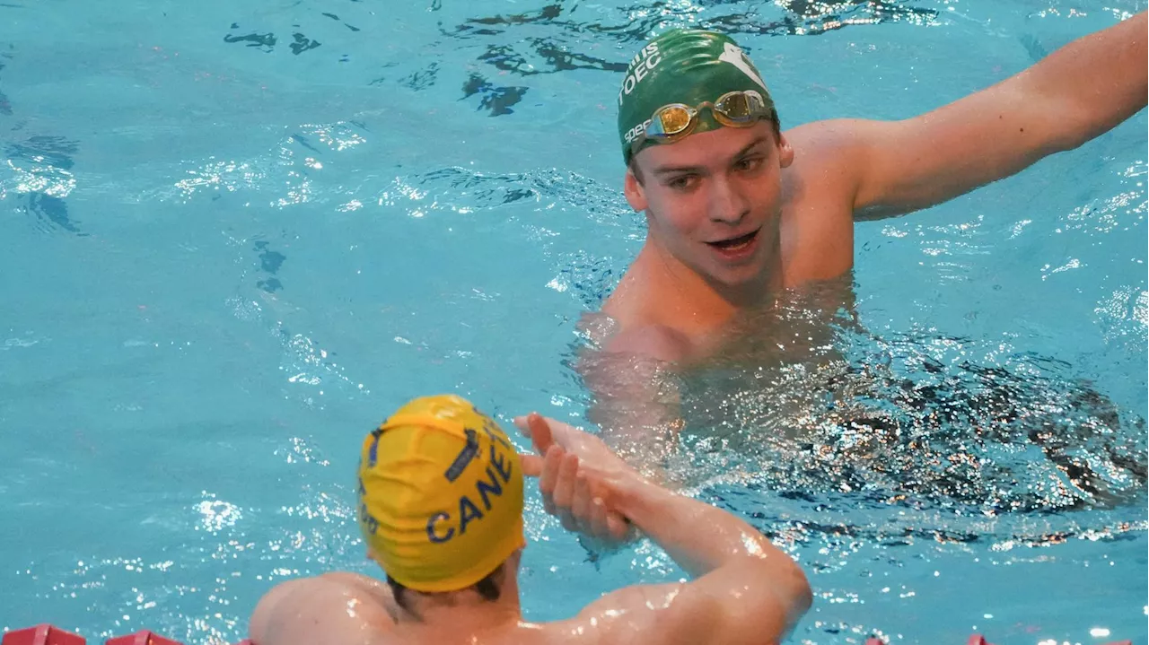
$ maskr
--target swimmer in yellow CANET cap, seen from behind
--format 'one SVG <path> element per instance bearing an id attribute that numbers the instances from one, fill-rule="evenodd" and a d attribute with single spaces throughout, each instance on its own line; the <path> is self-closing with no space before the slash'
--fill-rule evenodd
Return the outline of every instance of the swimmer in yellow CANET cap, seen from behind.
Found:
<path id="1" fill-rule="evenodd" d="M 252 615 L 255 645 L 778 643 L 809 609 L 802 570 L 748 523 L 643 480 L 594 435 L 537 414 L 516 423 L 538 454 L 520 456 L 456 396 L 417 398 L 384 421 L 363 442 L 357 497 L 386 583 L 350 573 L 282 583 Z M 640 531 L 693 580 L 524 621 L 525 476 L 539 479 L 548 508 L 568 510 L 568 528 Z"/>

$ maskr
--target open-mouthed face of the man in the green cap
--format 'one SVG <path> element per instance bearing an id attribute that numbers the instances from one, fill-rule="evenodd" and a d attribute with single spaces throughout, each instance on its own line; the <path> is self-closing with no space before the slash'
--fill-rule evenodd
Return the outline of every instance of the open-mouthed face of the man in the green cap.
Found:
<path id="1" fill-rule="evenodd" d="M 626 199 L 647 212 L 649 236 L 723 285 L 761 278 L 778 244 L 781 169 L 794 161 L 768 121 L 649 146 L 626 172 Z"/>

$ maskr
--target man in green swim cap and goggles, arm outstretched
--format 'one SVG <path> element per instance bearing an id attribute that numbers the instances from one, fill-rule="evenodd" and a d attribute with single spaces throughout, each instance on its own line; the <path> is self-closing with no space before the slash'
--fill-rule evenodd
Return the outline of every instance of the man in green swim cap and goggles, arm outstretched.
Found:
<path id="1" fill-rule="evenodd" d="M 645 246 L 603 306 L 608 351 L 683 363 L 779 289 L 840 278 L 854 223 L 920 210 L 1075 148 L 1149 103 L 1149 11 L 923 116 L 784 131 L 731 38 L 674 30 L 617 98 L 625 194 Z"/>

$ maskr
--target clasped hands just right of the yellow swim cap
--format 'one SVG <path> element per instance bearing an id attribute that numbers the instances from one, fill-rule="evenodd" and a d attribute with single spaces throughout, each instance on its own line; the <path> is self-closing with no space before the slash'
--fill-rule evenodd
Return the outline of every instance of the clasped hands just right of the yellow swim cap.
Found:
<path id="1" fill-rule="evenodd" d="M 610 510 L 609 499 L 638 474 L 599 437 L 566 423 L 532 413 L 515 425 L 531 437 L 539 454 L 523 454 L 523 472 L 539 477 L 547 513 L 566 530 L 593 538 L 604 547 L 633 537 L 630 523 Z"/>

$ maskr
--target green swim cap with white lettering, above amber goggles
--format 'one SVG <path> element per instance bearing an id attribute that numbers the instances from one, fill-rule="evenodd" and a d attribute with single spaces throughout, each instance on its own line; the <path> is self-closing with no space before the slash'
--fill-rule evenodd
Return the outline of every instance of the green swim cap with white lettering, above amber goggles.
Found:
<path id="1" fill-rule="evenodd" d="M 650 40 L 626 68 L 618 91 L 618 137 L 623 158 L 631 163 L 631 141 L 668 103 L 697 106 L 727 92 L 754 90 L 765 99 L 771 118 L 778 114 L 762 75 L 728 36 L 696 29 L 676 29 Z M 694 132 L 720 127 L 702 110 Z M 654 145 L 649 139 L 642 148 Z"/>

